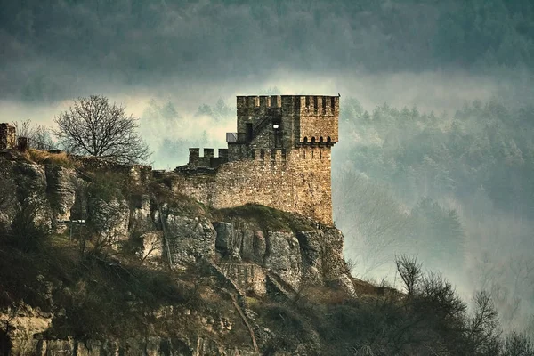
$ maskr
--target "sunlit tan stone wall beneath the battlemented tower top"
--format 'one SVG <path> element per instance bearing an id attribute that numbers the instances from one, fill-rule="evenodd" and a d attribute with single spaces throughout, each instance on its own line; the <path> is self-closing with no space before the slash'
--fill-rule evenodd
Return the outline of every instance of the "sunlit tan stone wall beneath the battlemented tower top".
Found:
<path id="1" fill-rule="evenodd" d="M 263 204 L 332 224 L 330 147 L 251 149 L 214 173 L 180 173 L 172 188 L 215 208 Z"/>

